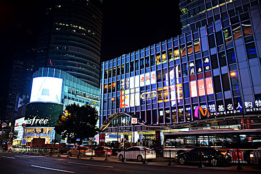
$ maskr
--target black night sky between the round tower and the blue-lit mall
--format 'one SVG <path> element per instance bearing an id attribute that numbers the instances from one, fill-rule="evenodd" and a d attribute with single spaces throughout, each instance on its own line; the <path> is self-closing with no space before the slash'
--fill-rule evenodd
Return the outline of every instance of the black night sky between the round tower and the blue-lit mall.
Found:
<path id="1" fill-rule="evenodd" d="M 103 0 L 102 61 L 180 34 L 178 2 Z"/>

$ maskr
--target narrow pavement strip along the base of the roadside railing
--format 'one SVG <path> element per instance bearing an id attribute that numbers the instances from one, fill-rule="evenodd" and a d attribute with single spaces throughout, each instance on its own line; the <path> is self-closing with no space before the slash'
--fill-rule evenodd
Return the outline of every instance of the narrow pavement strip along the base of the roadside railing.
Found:
<path id="1" fill-rule="evenodd" d="M 37 154 L 35 154 L 37 155 Z M 46 157 L 49 157 L 49 155 L 44 155 Z M 66 158 L 68 155 L 61 155 L 61 157 L 57 157 L 58 155 L 55 154 L 51 157 L 56 157 L 56 158 Z M 77 159 L 76 156 L 70 157 L 70 159 Z M 81 159 L 77 159 L 77 160 L 89 160 L 90 157 L 82 157 Z M 93 157 L 93 161 L 104 161 L 105 158 L 103 157 Z M 121 161 L 119 161 L 119 159 L 113 159 L 113 158 L 108 158 L 109 161 L 106 161 L 107 163 L 123 163 Z M 135 161 L 128 161 L 127 163 L 124 164 L 136 164 L 136 165 L 145 165 L 139 162 L 135 162 Z M 168 166 L 167 162 L 148 162 L 148 164 L 146 165 L 152 165 L 152 166 L 166 166 L 166 167 L 172 167 L 172 168 L 194 168 L 194 169 L 199 169 L 198 166 L 181 166 L 178 164 L 173 164 L 173 166 Z M 242 165 L 243 170 L 237 170 L 237 165 L 234 166 L 228 166 L 228 167 L 205 167 L 205 168 L 200 168 L 201 170 L 215 170 L 215 171 L 242 171 L 242 172 L 250 172 L 250 173 L 259 173 L 261 174 L 261 169 L 258 169 L 258 167 L 256 166 L 244 166 Z"/>

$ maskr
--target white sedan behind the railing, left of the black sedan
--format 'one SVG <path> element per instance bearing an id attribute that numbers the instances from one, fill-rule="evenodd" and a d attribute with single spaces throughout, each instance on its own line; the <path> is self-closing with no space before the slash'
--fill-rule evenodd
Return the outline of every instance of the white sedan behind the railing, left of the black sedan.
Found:
<path id="1" fill-rule="evenodd" d="M 146 159 L 148 160 L 156 159 L 156 152 L 144 146 L 134 146 L 126 149 L 125 159 L 138 160 L 138 162 L 142 162 L 143 159 L 145 158 L 145 150 L 146 150 Z M 122 160 L 123 156 L 124 156 L 124 151 L 118 153 L 119 160 Z"/>

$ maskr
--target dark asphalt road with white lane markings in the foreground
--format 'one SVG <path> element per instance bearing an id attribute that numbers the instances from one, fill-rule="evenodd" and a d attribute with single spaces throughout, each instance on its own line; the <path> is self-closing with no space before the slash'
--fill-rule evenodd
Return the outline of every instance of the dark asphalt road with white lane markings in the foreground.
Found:
<path id="1" fill-rule="evenodd" d="M 0 174 L 238 174 L 232 171 L 210 171 L 130 163 L 77 160 L 45 156 L 0 153 Z M 241 174 L 247 172 L 241 171 Z"/>

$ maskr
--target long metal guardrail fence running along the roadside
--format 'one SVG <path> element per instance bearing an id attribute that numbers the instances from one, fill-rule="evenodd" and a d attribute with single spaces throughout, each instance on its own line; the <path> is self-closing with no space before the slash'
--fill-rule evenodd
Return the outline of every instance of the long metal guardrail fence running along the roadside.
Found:
<path id="1" fill-rule="evenodd" d="M 61 148 L 47 148 L 47 147 L 35 147 L 35 148 L 13 148 L 12 153 L 22 153 L 22 154 L 41 154 L 41 155 L 58 155 L 60 156 Z M 219 151 L 221 154 L 214 156 L 214 152 L 200 151 L 197 153 L 189 153 L 189 151 L 173 151 L 173 150 L 140 150 L 140 151 L 128 151 L 121 149 L 106 149 L 102 151 L 97 151 L 91 148 L 90 153 L 85 155 L 79 154 L 73 155 L 78 158 L 90 158 L 95 157 L 104 158 L 106 161 L 109 159 L 119 159 L 123 162 L 126 160 L 136 160 L 138 162 L 147 161 L 148 162 L 168 162 L 168 165 L 175 164 L 209 164 L 210 166 L 217 165 L 254 165 L 261 167 L 261 151 Z M 211 155 L 212 153 L 212 155 Z M 64 153 L 70 158 L 72 154 L 68 151 Z M 146 164 L 144 163 L 144 164 Z"/>

